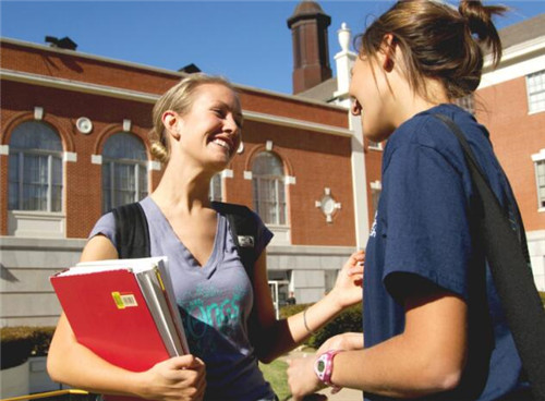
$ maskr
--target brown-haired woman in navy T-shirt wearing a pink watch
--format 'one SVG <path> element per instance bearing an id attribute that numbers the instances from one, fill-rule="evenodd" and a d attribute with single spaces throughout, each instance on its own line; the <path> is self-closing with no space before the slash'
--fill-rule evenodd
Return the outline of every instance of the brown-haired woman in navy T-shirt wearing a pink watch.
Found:
<path id="1" fill-rule="evenodd" d="M 492 17 L 505 11 L 474 0 L 458 9 L 399 1 L 359 37 L 351 111 L 367 138 L 388 139 L 366 247 L 365 341 L 340 335 L 315 359 L 291 361 L 295 400 L 326 385 L 361 389 L 366 400 L 530 399 L 471 218 L 464 154 L 436 117 L 461 127 L 499 203 L 516 209 L 486 129 L 453 105 L 477 88 L 484 48 L 499 62 Z"/>

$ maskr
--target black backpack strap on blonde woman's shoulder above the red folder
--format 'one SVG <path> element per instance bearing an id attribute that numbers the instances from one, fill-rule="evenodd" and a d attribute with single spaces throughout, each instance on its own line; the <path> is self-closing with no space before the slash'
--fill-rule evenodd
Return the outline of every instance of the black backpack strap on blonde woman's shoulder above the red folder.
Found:
<path id="1" fill-rule="evenodd" d="M 120 259 L 149 257 L 149 228 L 140 203 L 111 210 L 116 218 L 116 242 Z"/>

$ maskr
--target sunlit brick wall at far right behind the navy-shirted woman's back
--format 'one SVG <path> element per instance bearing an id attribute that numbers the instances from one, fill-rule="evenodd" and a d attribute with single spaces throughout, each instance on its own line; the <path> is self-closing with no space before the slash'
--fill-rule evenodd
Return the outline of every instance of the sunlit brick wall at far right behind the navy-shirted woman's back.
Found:
<path id="1" fill-rule="evenodd" d="M 535 169 L 531 156 L 545 148 L 545 112 L 528 113 L 525 78 L 477 93 L 477 119 L 491 132 L 496 155 L 511 182 L 528 231 L 545 229 L 537 212 Z"/>

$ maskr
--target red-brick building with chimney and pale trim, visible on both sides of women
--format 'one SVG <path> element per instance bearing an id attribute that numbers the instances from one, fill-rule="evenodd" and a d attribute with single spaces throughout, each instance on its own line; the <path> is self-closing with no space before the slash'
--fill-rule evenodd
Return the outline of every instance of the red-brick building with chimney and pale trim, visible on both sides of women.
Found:
<path id="1" fill-rule="evenodd" d="M 314 302 L 331 288 L 346 257 L 365 246 L 380 193 L 382 144 L 364 141 L 348 113 L 350 29 L 339 29 L 330 77 L 328 19 L 304 1 L 288 20 L 295 95 L 235 85 L 244 146 L 210 191 L 257 210 L 275 232 L 267 262 L 279 303 L 289 290 Z M 521 205 L 542 290 L 544 22 L 501 32 L 504 61 L 486 71 L 474 99 Z M 8 38 L 0 57 L 0 325 L 55 325 L 60 307 L 48 277 L 77 262 L 104 211 L 157 185 L 152 108 L 185 73 Z"/>

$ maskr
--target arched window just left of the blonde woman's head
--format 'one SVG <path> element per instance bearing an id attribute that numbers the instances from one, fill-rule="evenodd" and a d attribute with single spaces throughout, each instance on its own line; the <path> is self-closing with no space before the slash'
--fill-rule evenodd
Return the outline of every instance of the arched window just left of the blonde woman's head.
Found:
<path id="1" fill-rule="evenodd" d="M 102 151 L 102 211 L 137 202 L 147 195 L 147 157 L 136 136 L 110 136 Z"/>

